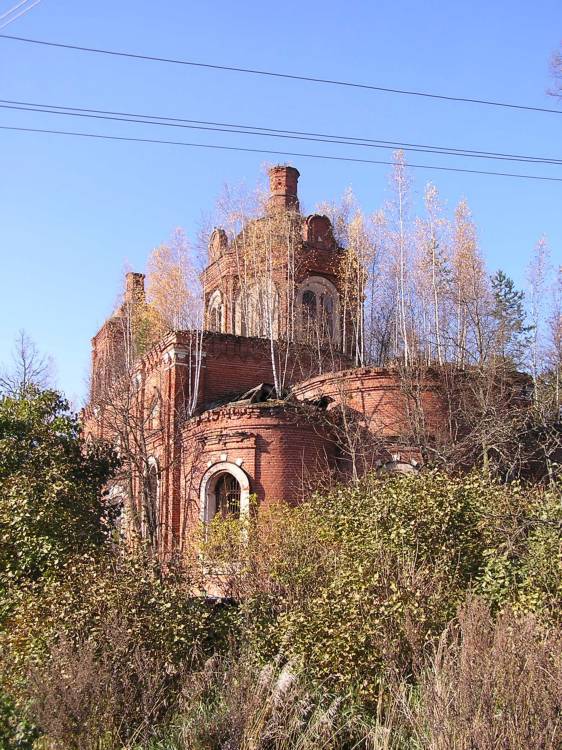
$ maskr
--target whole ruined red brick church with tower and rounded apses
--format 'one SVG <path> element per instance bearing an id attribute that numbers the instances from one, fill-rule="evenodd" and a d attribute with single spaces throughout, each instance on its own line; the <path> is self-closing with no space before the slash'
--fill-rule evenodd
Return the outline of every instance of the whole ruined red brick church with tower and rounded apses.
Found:
<path id="1" fill-rule="evenodd" d="M 113 491 L 142 516 L 147 488 L 164 550 L 217 514 L 295 503 L 320 478 L 349 476 L 353 450 L 344 428 L 351 417 L 363 470 L 414 471 L 421 460 L 396 372 L 356 365 L 358 339 L 343 303 L 346 249 L 326 216 L 300 213 L 294 167 L 273 167 L 269 177 L 264 216 L 233 239 L 222 229 L 211 236 L 204 330 L 169 332 L 120 374 L 130 381 L 135 415 L 126 429 L 142 432 L 144 453 L 132 462 L 127 487 Z M 289 217 L 290 258 L 286 227 L 267 232 L 280 216 Z M 250 238 L 263 271 L 244 283 Z M 362 289 L 355 292 L 361 299 Z M 123 436 L 116 440 L 103 398 L 119 382 L 108 362 L 123 361 L 124 311 L 143 300 L 143 274 L 127 274 L 123 305 L 92 340 L 84 430 L 88 440 L 112 440 L 118 450 Z M 417 401 L 426 430 L 438 431 L 443 410 L 435 389 L 422 388 Z M 365 435 L 373 438 L 367 451 Z M 132 444 L 141 451 L 137 435 Z"/>

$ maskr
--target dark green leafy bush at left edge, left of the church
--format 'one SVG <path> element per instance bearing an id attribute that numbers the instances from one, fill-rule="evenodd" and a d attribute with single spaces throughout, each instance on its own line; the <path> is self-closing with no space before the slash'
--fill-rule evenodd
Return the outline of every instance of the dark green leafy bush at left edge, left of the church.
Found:
<path id="1" fill-rule="evenodd" d="M 116 458 L 83 449 L 78 420 L 56 391 L 0 398 L 0 618 L 15 587 L 105 540 L 102 487 Z"/>

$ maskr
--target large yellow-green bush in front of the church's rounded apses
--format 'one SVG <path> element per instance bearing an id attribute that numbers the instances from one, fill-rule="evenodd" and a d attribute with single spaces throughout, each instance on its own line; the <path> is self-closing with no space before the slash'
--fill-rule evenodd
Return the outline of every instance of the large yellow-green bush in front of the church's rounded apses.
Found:
<path id="1" fill-rule="evenodd" d="M 470 590 L 495 610 L 558 617 L 560 517 L 553 496 L 481 474 L 371 475 L 243 530 L 219 523 L 206 566 L 241 598 L 264 659 L 280 651 L 315 684 L 373 703 L 389 679 L 416 677 Z"/>

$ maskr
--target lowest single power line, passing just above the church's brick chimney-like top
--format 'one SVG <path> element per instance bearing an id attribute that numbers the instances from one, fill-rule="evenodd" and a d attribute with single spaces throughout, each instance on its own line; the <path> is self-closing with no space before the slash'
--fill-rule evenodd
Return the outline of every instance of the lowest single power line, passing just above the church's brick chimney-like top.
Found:
<path id="1" fill-rule="evenodd" d="M 102 135 L 100 133 L 82 133 L 72 130 L 49 130 L 47 128 L 22 128 L 11 125 L 0 125 L 0 130 L 12 130 L 21 133 L 47 133 L 52 135 L 70 135 L 78 136 L 81 138 L 94 138 L 105 141 L 129 141 L 131 143 L 157 143 L 168 146 L 186 146 L 189 148 L 205 148 L 205 149 L 217 149 L 220 151 L 240 151 L 244 153 L 252 154 L 274 154 L 276 156 L 298 156 L 306 159 L 325 159 L 328 161 L 346 161 L 355 162 L 357 164 L 383 164 L 387 166 L 393 166 L 391 161 L 382 161 L 378 159 L 360 159 L 351 156 L 330 156 L 328 154 L 310 154 L 296 151 L 274 151 L 272 149 L 261 149 L 261 148 L 249 148 L 244 146 L 225 146 L 219 144 L 210 143 L 189 143 L 187 141 L 167 141 L 157 138 L 135 138 L 130 136 L 120 135 Z M 438 170 L 440 172 L 462 172 L 465 174 L 482 174 L 482 175 L 493 175 L 495 177 L 516 177 L 518 179 L 525 180 L 542 180 L 546 182 L 562 182 L 562 177 L 542 177 L 539 175 L 530 174 L 516 174 L 514 172 L 491 172 L 480 169 L 464 169 L 461 167 L 438 167 L 432 164 L 408 164 L 408 167 L 413 169 L 430 169 Z"/>

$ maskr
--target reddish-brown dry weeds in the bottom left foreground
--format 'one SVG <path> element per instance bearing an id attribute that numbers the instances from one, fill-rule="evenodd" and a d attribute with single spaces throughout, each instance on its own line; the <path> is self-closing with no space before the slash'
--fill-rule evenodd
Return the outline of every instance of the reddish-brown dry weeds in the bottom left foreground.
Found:
<path id="1" fill-rule="evenodd" d="M 61 637 L 47 662 L 30 673 L 31 713 L 49 747 L 142 746 L 176 706 L 178 675 L 132 643 L 119 622 L 103 629 L 96 640 Z"/>

